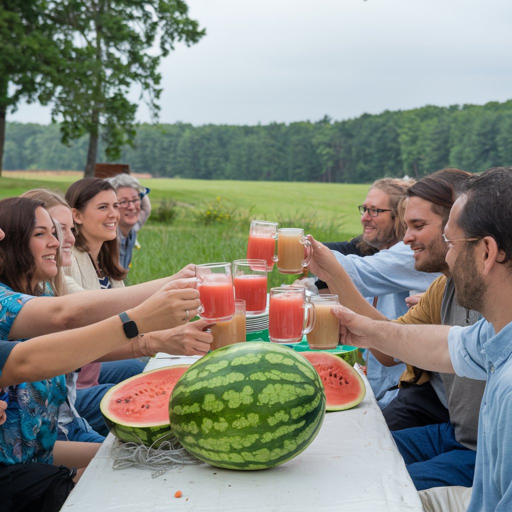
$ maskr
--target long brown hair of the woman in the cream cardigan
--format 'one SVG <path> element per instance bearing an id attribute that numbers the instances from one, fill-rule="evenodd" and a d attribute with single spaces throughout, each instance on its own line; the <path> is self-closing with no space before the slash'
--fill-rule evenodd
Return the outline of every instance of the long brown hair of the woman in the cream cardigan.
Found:
<path id="1" fill-rule="evenodd" d="M 75 183 L 68 188 L 65 198 L 71 208 L 82 212 L 93 197 L 103 190 L 112 190 L 114 194 L 116 192 L 108 181 L 100 178 L 82 178 L 81 180 L 75 181 Z M 80 225 L 76 222 L 75 230 L 75 247 L 83 252 L 90 252 L 87 240 L 80 232 Z M 98 264 L 111 279 L 121 281 L 126 277 L 128 272 L 119 264 L 119 244 L 117 239 L 106 240 L 101 244 L 101 249 L 98 254 Z"/>

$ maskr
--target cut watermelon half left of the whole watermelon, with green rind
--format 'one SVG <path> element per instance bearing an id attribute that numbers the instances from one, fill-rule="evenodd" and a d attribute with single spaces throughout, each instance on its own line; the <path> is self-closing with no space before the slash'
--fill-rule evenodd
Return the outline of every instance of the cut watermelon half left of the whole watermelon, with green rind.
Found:
<path id="1" fill-rule="evenodd" d="M 190 365 L 143 372 L 123 380 L 105 393 L 100 410 L 110 432 L 123 442 L 151 446 L 169 440 L 169 398 L 178 379 Z M 157 448 L 160 443 L 153 447 Z"/>

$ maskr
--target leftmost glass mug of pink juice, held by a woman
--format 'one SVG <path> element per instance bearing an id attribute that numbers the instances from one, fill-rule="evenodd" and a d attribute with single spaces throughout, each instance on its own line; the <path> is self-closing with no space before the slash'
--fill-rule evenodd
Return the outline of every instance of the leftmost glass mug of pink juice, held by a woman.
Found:
<path id="1" fill-rule="evenodd" d="M 234 314 L 234 292 L 231 263 L 205 263 L 196 265 L 198 278 L 198 314 L 204 320 L 222 322 Z"/>

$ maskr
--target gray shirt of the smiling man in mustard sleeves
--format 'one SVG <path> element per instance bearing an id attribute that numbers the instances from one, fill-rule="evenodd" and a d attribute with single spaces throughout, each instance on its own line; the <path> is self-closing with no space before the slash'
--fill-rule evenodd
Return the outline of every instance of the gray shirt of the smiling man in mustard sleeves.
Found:
<path id="1" fill-rule="evenodd" d="M 453 279 L 447 280 L 441 302 L 441 323 L 465 327 L 475 324 L 481 318 L 482 315 L 477 311 L 461 308 L 455 303 L 455 284 Z M 440 375 L 448 397 L 448 411 L 455 429 L 455 439 L 466 448 L 476 450 L 478 416 L 485 380 L 468 379 L 453 373 Z"/>

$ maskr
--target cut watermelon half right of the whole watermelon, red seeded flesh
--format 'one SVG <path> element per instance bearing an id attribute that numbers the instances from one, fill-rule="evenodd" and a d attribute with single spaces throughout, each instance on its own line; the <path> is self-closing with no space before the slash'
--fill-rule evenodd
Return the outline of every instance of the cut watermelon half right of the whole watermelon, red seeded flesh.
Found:
<path id="1" fill-rule="evenodd" d="M 343 411 L 356 406 L 366 395 L 366 386 L 347 361 L 329 352 L 301 352 L 322 379 L 327 411 Z"/>

